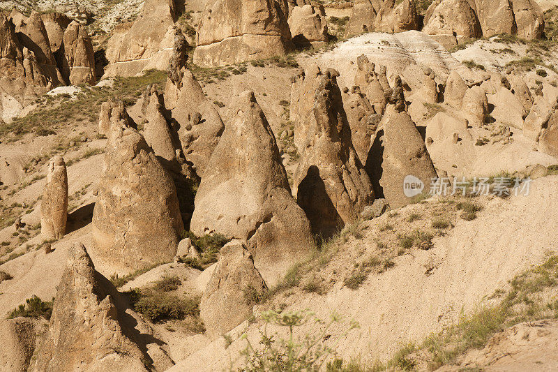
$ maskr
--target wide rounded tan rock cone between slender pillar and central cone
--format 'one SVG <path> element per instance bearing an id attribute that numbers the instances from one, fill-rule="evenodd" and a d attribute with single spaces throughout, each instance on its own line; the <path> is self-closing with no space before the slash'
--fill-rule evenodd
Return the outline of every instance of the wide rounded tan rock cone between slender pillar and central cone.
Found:
<path id="1" fill-rule="evenodd" d="M 126 120 L 111 123 L 107 137 L 93 211 L 94 257 L 117 273 L 172 260 L 183 231 L 172 178 Z"/>

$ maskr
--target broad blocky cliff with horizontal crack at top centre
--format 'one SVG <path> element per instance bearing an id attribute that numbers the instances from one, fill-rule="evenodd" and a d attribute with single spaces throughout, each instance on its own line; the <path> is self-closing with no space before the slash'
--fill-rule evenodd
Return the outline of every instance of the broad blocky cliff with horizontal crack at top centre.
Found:
<path id="1" fill-rule="evenodd" d="M 224 66 L 291 52 L 286 9 L 277 0 L 208 1 L 197 29 L 194 63 Z"/>

